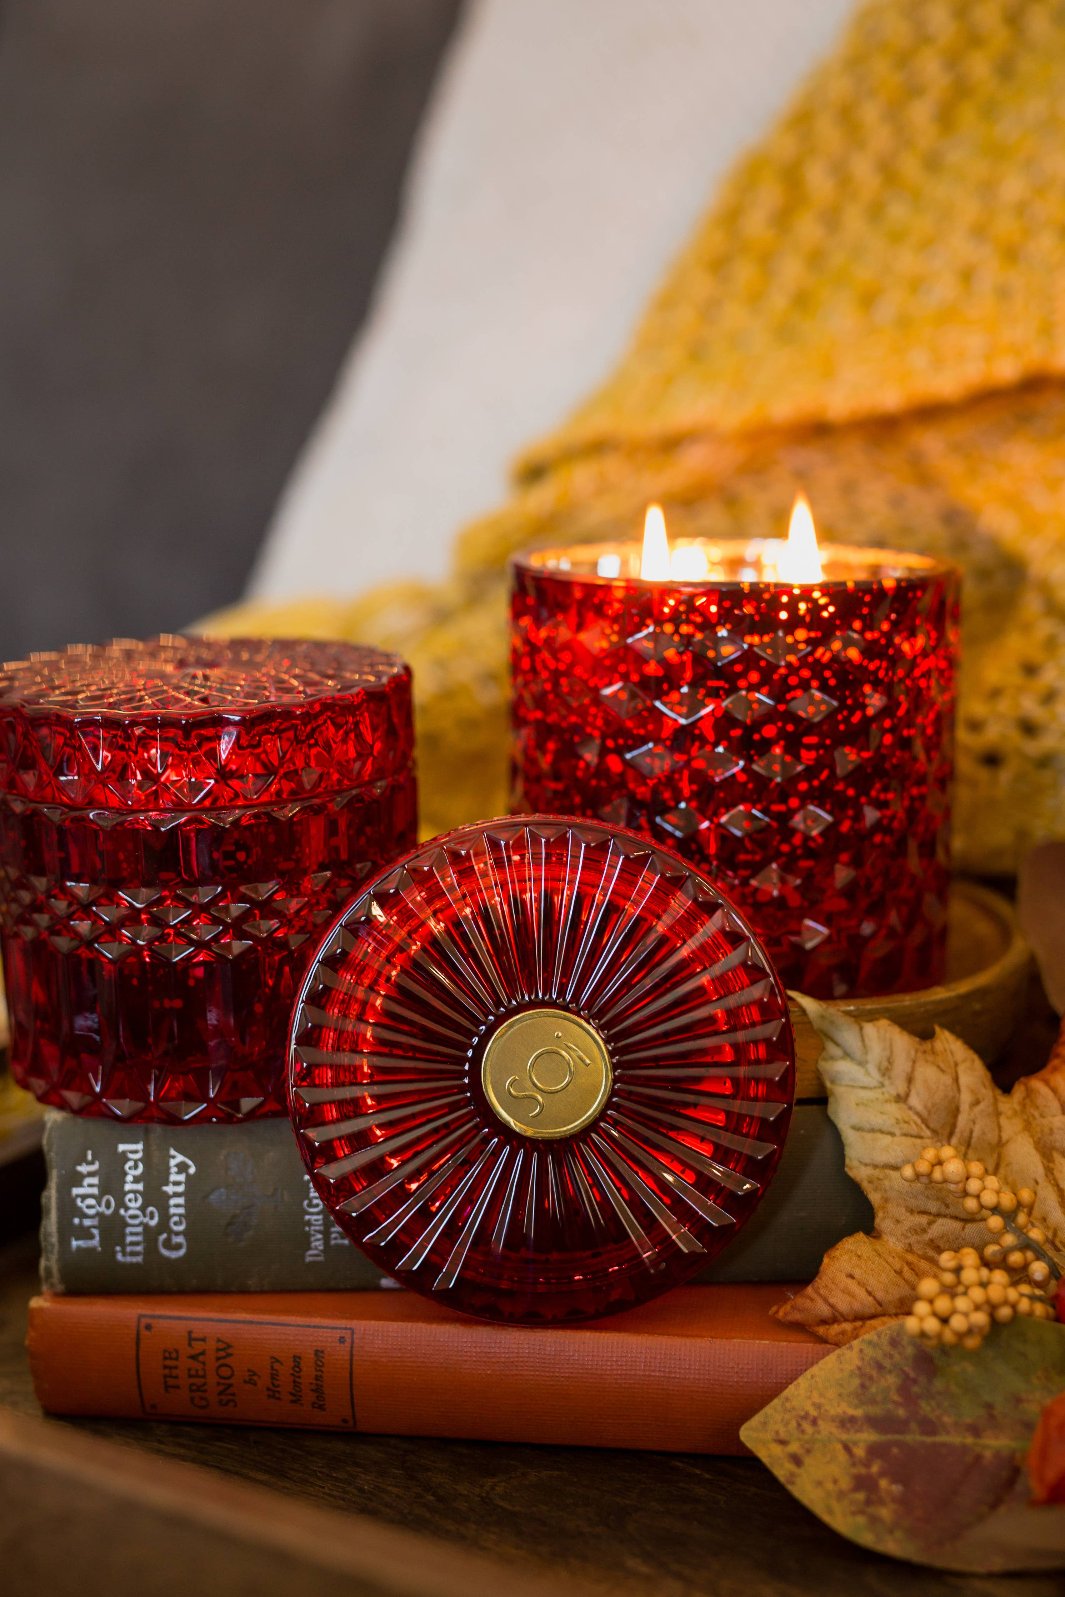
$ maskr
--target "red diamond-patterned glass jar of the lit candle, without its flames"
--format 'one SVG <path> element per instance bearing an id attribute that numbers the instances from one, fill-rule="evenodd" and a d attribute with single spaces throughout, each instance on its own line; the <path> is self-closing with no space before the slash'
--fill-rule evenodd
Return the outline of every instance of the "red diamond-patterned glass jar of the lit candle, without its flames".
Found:
<path id="1" fill-rule="evenodd" d="M 514 562 L 513 808 L 677 848 L 789 987 L 940 981 L 958 573 L 827 549 L 816 586 L 645 583 L 559 553 Z"/>

